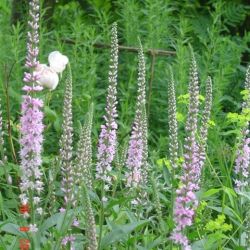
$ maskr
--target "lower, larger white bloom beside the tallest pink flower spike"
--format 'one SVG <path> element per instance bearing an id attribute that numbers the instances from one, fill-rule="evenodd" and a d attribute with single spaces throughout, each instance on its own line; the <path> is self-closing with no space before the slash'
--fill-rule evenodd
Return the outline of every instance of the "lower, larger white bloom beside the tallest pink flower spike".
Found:
<path id="1" fill-rule="evenodd" d="M 35 70 L 39 74 L 37 83 L 43 87 L 54 90 L 59 82 L 57 73 L 46 64 L 39 64 Z"/>

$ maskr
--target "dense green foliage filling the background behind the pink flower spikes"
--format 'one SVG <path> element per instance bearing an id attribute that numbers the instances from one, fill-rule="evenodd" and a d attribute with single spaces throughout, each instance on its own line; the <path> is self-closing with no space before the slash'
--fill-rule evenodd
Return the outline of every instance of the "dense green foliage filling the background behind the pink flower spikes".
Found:
<path id="1" fill-rule="evenodd" d="M 122 192 L 120 175 L 117 174 L 117 196 L 105 208 L 102 249 L 178 249 L 171 246 L 168 238 L 173 229 L 173 221 L 169 210 L 171 166 L 168 159 L 167 86 L 170 80 L 168 66 L 171 65 L 176 82 L 177 117 L 182 138 L 188 102 L 188 44 L 192 44 L 197 58 L 201 95 L 205 94 L 208 75 L 213 81 L 208 159 L 202 174 L 202 189 L 198 193 L 200 205 L 189 238 L 194 242 L 193 249 L 197 250 L 249 249 L 244 245 L 242 225 L 245 218 L 237 202 L 232 180 L 237 136 L 240 133 L 240 124 L 236 122 L 234 113 L 241 110 L 240 92 L 249 63 L 250 31 L 247 30 L 247 25 L 249 26 L 250 6 L 244 1 L 236 0 L 89 0 L 88 8 L 84 9 L 77 1 L 68 2 L 57 3 L 53 16 L 48 17 L 46 9 L 42 12 L 42 16 L 46 18 L 41 18 L 40 23 L 40 61 L 47 61 L 48 54 L 53 50 L 59 50 L 69 57 L 73 74 L 74 147 L 77 145 L 85 115 L 93 102 L 93 156 L 96 157 L 105 107 L 109 60 L 109 50 L 101 46 L 98 48 L 97 45 L 109 44 L 111 24 L 114 21 L 118 23 L 120 45 L 138 47 L 139 37 L 146 52 L 149 156 L 153 169 L 149 193 L 152 202 L 146 209 L 147 216 L 139 218 L 140 211 L 137 211 L 136 218 L 132 209 L 128 209 L 129 202 Z M 10 1 L 0 1 L 0 97 L 8 158 L 10 162 L 15 162 L 7 125 L 9 122 L 18 157 L 19 110 L 27 27 L 26 23 L 11 26 L 10 18 Z M 155 55 L 154 50 L 149 49 L 174 51 L 175 54 Z M 120 151 L 131 132 L 136 82 L 137 54 L 121 50 L 118 69 Z M 44 171 L 49 173 L 59 150 L 64 87 L 64 80 L 61 80 L 55 91 L 46 92 L 44 96 Z M 232 114 L 228 115 L 229 112 Z M 13 184 L 9 186 L 5 183 L 4 172 L 0 169 L 0 221 L 6 220 L 15 224 L 18 211 L 15 193 L 20 173 L 14 163 L 8 163 L 7 170 L 11 173 Z M 59 185 L 59 182 L 55 185 Z M 85 189 L 84 194 L 87 196 Z M 249 199 L 249 194 L 246 196 Z M 98 197 L 91 193 L 90 199 L 97 211 L 100 205 Z M 52 219 L 43 225 L 44 231 L 52 225 L 56 225 L 59 230 L 63 223 L 61 214 L 51 215 Z M 79 242 L 82 240 L 80 233 L 84 230 L 83 221 L 80 221 L 80 225 L 80 229 L 76 230 Z M 2 226 L 4 225 L 0 224 L 0 232 Z M 13 233 L 14 229 L 14 226 L 9 226 L 5 231 Z M 1 234 L 0 237 L 5 245 L 13 245 L 8 249 L 16 249 L 16 243 L 12 243 L 14 237 L 10 234 Z M 44 249 L 50 249 L 49 243 L 44 245 Z M 0 249 L 5 249 L 1 247 L 0 243 Z M 79 249 L 81 247 L 79 245 Z"/>

